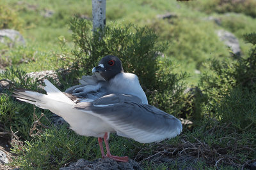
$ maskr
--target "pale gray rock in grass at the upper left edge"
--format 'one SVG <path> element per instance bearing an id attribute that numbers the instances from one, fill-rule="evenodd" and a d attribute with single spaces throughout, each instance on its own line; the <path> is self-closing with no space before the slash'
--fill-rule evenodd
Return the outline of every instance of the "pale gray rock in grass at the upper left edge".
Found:
<path id="1" fill-rule="evenodd" d="M 6 38 L 10 39 L 12 42 L 8 43 Z M 15 43 L 19 43 L 21 45 L 25 45 L 26 42 L 23 36 L 20 34 L 19 31 L 13 29 L 1 29 L 0 30 L 0 43 L 6 43 L 8 46 L 13 46 Z"/>

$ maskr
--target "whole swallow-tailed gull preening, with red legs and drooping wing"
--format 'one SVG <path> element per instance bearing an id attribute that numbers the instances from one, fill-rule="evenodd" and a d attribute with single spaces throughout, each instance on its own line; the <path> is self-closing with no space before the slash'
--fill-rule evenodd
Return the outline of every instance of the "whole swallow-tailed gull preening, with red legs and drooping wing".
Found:
<path id="1" fill-rule="evenodd" d="M 102 158 L 128 161 L 128 157 L 111 155 L 108 145 L 110 132 L 140 143 L 159 142 L 180 134 L 180 120 L 148 104 L 138 76 L 124 73 L 118 57 L 103 57 L 92 72 L 92 76 L 81 78 L 81 85 L 70 87 L 65 92 L 44 80 L 47 94 L 16 89 L 13 96 L 63 117 L 70 129 L 79 135 L 98 138 Z"/>

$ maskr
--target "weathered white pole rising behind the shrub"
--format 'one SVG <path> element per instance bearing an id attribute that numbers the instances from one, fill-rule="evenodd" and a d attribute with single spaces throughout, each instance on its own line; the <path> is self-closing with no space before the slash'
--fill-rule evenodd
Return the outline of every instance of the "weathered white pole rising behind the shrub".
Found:
<path id="1" fill-rule="evenodd" d="M 106 0 L 92 0 L 93 31 L 106 25 Z"/>

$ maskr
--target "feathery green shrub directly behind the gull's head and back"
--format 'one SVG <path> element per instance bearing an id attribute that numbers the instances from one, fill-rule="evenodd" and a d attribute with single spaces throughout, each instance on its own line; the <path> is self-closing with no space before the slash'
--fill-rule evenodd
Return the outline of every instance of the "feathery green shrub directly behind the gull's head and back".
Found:
<path id="1" fill-rule="evenodd" d="M 74 57 L 63 61 L 71 64 L 83 74 L 88 74 L 93 66 L 105 55 L 115 55 L 122 60 L 125 72 L 134 73 L 147 95 L 149 103 L 175 115 L 184 105 L 182 99 L 186 73 L 173 73 L 170 59 L 159 55 L 166 44 L 157 42 L 157 36 L 148 27 L 112 24 L 103 31 L 92 32 L 92 24 L 86 20 L 73 18 L 70 22 L 75 42 Z"/>

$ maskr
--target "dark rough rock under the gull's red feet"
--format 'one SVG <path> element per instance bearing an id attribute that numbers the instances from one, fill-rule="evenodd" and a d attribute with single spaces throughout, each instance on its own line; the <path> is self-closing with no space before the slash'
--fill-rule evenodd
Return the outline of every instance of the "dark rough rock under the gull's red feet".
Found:
<path id="1" fill-rule="evenodd" d="M 97 159 L 97 160 L 85 160 L 79 159 L 77 162 L 70 164 L 68 167 L 61 167 L 60 170 L 110 170 L 110 169 L 142 169 L 140 165 L 132 159 L 129 162 L 116 162 L 113 159 Z"/>

